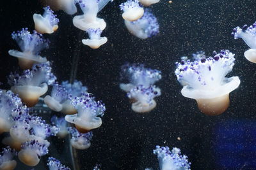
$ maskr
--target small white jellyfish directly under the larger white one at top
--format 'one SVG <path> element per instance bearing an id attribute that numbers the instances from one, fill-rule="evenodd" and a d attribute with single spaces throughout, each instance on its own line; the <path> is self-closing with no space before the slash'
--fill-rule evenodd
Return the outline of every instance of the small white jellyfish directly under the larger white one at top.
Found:
<path id="1" fill-rule="evenodd" d="M 104 45 L 108 41 L 106 37 L 100 37 L 101 30 L 97 29 L 87 29 L 86 31 L 90 39 L 82 39 L 84 45 L 88 45 L 93 49 L 99 48 L 101 45 Z"/>

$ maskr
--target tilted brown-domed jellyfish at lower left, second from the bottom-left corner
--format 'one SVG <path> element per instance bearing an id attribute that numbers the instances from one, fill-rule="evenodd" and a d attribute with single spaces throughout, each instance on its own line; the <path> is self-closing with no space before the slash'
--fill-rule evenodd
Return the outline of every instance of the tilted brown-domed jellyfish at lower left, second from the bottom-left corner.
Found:
<path id="1" fill-rule="evenodd" d="M 27 166 L 36 166 L 40 157 L 48 153 L 48 147 L 36 140 L 26 141 L 18 153 L 19 160 Z"/>

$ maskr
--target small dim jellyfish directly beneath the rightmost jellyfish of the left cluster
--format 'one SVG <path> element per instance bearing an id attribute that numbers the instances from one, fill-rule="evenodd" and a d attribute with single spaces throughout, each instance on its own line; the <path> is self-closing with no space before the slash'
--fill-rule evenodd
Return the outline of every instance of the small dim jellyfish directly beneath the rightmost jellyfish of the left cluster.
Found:
<path id="1" fill-rule="evenodd" d="M 77 150 L 85 150 L 91 146 L 92 132 L 81 133 L 74 127 L 68 127 L 68 131 L 72 135 L 70 143 Z"/>

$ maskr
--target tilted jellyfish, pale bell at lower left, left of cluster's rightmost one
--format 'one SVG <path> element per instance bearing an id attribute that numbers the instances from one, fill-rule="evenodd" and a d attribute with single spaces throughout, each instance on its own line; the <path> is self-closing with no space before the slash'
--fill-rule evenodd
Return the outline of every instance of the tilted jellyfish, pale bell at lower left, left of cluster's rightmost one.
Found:
<path id="1" fill-rule="evenodd" d="M 55 82 L 52 84 L 51 96 L 45 96 L 44 103 L 53 111 L 62 111 L 62 104 L 69 100 L 69 96 L 65 87 Z"/>

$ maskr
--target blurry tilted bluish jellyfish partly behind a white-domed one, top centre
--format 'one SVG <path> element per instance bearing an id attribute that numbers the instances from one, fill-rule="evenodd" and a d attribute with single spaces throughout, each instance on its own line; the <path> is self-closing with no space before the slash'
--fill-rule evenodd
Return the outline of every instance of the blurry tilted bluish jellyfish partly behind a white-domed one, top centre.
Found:
<path id="1" fill-rule="evenodd" d="M 140 39 L 147 39 L 159 33 L 157 18 L 149 9 L 144 10 L 144 15 L 140 19 L 135 21 L 125 20 L 124 23 L 128 31 Z"/>

